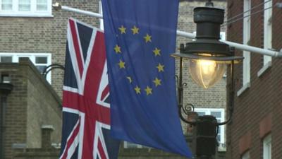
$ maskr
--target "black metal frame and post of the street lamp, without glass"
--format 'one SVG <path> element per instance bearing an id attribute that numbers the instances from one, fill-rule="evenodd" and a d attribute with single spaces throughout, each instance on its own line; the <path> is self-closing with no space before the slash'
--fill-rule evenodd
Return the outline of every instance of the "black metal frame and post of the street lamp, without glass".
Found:
<path id="1" fill-rule="evenodd" d="M 223 23 L 224 10 L 219 8 L 198 7 L 194 9 L 194 21 L 197 23 L 196 40 L 188 42 L 184 47 L 180 45 L 180 53 L 172 54 L 180 59 L 179 76 L 176 76 L 178 88 L 178 113 L 180 119 L 196 128 L 196 152 L 197 158 L 210 159 L 216 153 L 216 136 L 219 126 L 231 121 L 233 115 L 234 102 L 234 64 L 242 60 L 243 57 L 234 57 L 234 49 L 220 42 L 220 25 Z M 187 83 L 183 83 L 183 59 L 207 59 L 221 61 L 229 65 L 231 83 L 228 84 L 228 119 L 225 122 L 217 122 L 216 117 L 204 115 L 197 117 L 195 121 L 190 121 L 184 117 L 189 117 L 194 112 L 194 106 L 190 103 L 183 105 L 183 88 Z"/>

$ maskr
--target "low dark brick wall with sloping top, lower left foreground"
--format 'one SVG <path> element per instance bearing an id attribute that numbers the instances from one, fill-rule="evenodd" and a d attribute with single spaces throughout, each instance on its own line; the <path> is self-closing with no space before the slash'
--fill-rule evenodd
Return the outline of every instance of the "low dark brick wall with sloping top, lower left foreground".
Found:
<path id="1" fill-rule="evenodd" d="M 15 148 L 39 148 L 41 127 L 54 126 L 51 142 L 61 140 L 61 100 L 27 59 L 19 64 L 0 63 L 0 74 L 11 77 L 13 90 L 7 96 L 4 119 L 5 159 Z"/>

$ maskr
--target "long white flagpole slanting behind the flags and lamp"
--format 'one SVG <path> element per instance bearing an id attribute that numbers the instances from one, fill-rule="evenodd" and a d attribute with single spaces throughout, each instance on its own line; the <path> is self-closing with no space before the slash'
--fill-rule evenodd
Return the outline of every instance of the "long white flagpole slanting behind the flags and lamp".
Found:
<path id="1" fill-rule="evenodd" d="M 78 8 L 72 8 L 72 7 L 68 7 L 68 6 L 61 6 L 61 4 L 59 4 L 58 2 L 56 2 L 55 4 L 52 5 L 53 8 L 58 11 L 59 9 L 63 10 L 63 11 L 71 11 L 74 13 L 80 13 L 83 15 L 87 15 L 87 16 L 93 16 L 93 17 L 97 17 L 97 18 L 103 18 L 102 14 L 99 13 L 94 13 L 91 11 L 84 11 Z M 176 32 L 177 35 L 179 36 L 183 36 L 183 37 L 188 37 L 191 39 L 195 39 L 196 35 L 193 33 L 187 33 L 184 31 L 180 31 L 177 30 Z M 235 47 L 236 49 L 240 49 L 243 51 L 248 51 L 248 52 L 254 52 L 257 54 L 262 54 L 262 55 L 266 55 L 266 56 L 270 56 L 270 57 L 282 57 L 282 49 L 280 49 L 279 52 L 274 51 L 274 50 L 269 50 L 269 49 L 262 49 L 259 47 L 252 47 L 249 45 L 243 45 L 243 44 L 239 44 L 236 42 L 229 42 L 229 41 L 225 41 L 225 40 L 220 40 L 221 42 L 225 42 L 226 44 L 228 44 L 231 47 Z"/>

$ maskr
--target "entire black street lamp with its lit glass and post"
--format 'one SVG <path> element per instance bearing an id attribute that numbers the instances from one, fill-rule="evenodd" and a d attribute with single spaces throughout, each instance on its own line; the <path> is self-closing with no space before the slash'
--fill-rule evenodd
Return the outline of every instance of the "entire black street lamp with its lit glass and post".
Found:
<path id="1" fill-rule="evenodd" d="M 188 42 L 185 46 L 180 45 L 180 52 L 172 54 L 176 59 L 180 59 L 180 69 L 178 77 L 178 112 L 180 119 L 196 130 L 196 152 L 197 158 L 212 158 L 216 152 L 216 135 L 220 125 L 227 124 L 232 117 L 234 84 L 233 65 L 240 62 L 243 57 L 234 57 L 234 50 L 226 43 L 220 42 L 220 25 L 223 23 L 224 10 L 210 7 L 197 7 L 194 9 L 194 22 L 197 23 L 196 40 Z M 198 117 L 195 121 L 190 121 L 183 117 L 194 110 L 191 104 L 183 105 L 183 87 L 187 83 L 182 81 L 183 60 L 188 61 L 189 72 L 192 80 L 202 88 L 214 86 L 221 80 L 226 68 L 230 69 L 231 84 L 228 87 L 229 93 L 229 117 L 225 122 L 217 122 L 211 115 Z"/>

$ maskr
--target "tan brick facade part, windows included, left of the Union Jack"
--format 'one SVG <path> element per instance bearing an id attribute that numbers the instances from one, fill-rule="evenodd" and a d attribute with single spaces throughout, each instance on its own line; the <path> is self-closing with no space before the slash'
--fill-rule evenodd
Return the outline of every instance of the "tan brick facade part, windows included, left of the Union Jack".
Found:
<path id="1" fill-rule="evenodd" d="M 99 19 L 67 11 L 53 11 L 55 1 L 5 1 L 0 8 L 0 62 L 17 62 L 29 57 L 43 71 L 50 64 L 64 65 L 66 28 L 69 17 L 99 27 Z M 58 1 L 62 5 L 99 13 L 99 1 Z M 23 4 L 21 4 L 23 3 Z M 54 69 L 47 75 L 51 86 L 61 97 L 63 71 Z"/>

